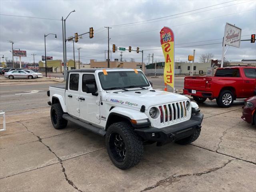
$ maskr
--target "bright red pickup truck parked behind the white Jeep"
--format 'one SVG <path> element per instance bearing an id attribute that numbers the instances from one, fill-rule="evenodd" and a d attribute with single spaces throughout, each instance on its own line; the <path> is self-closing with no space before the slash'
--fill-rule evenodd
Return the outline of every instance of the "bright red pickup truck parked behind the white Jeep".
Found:
<path id="1" fill-rule="evenodd" d="M 218 106 L 230 107 L 236 98 L 256 95 L 256 67 L 218 68 L 214 76 L 188 76 L 184 94 L 196 102 L 216 99 Z"/>

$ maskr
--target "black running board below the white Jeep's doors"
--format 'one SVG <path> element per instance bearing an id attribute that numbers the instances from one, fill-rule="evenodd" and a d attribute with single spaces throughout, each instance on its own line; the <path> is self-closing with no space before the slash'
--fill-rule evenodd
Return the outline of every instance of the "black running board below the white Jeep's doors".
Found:
<path id="1" fill-rule="evenodd" d="M 100 136 L 105 136 L 106 135 L 106 131 L 104 129 L 101 129 L 101 128 L 95 127 L 93 125 L 90 125 L 88 123 L 82 122 L 82 121 L 80 121 L 80 120 L 78 120 L 76 118 L 71 117 L 68 114 L 63 114 L 62 118 L 66 119 L 68 121 L 71 121 L 71 122 L 81 126 L 82 128 L 85 128 L 85 129 L 87 129 L 87 130 L 89 130 L 91 132 L 94 132 L 94 133 L 96 133 L 96 134 L 98 134 Z"/>

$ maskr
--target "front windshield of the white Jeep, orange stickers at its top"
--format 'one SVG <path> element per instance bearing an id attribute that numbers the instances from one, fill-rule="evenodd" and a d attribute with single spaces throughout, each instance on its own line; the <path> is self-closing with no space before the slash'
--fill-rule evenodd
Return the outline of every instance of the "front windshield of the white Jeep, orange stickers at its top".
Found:
<path id="1" fill-rule="evenodd" d="M 108 74 L 104 75 L 103 72 L 99 72 L 100 84 L 104 90 L 117 90 L 124 88 L 142 88 L 148 87 L 149 83 L 145 75 L 138 71 L 108 71 Z"/>

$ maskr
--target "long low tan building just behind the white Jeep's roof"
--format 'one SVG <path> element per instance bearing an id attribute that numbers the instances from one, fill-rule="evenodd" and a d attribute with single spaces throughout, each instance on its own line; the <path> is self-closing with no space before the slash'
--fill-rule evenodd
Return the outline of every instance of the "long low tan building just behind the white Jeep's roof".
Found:
<path id="1" fill-rule="evenodd" d="M 145 71 L 145 64 L 141 62 L 121 62 L 121 61 L 110 61 L 110 68 L 132 68 L 140 69 L 143 72 Z M 107 61 L 96 61 L 94 59 L 90 60 L 90 68 L 107 68 Z"/>

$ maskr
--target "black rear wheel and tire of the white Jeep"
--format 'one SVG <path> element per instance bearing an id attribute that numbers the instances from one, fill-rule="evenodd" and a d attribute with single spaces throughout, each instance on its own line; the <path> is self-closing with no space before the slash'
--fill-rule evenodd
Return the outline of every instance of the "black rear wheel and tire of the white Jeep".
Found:
<path id="1" fill-rule="evenodd" d="M 64 118 L 62 118 L 63 111 L 60 106 L 60 104 L 55 103 L 51 107 L 51 120 L 52 120 L 52 125 L 56 129 L 63 129 L 67 126 L 68 121 Z"/>

